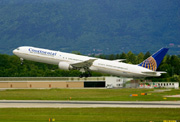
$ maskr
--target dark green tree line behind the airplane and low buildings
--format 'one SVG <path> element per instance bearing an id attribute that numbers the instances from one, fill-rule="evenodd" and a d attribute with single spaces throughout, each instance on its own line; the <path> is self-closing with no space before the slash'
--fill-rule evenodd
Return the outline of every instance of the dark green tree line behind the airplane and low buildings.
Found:
<path id="1" fill-rule="evenodd" d="M 77 51 L 73 53 L 80 54 Z M 108 60 L 126 59 L 124 62 L 130 64 L 139 64 L 150 56 L 150 52 L 145 54 L 134 54 L 131 51 L 121 54 L 100 54 L 91 55 L 91 57 L 97 57 Z M 166 55 L 157 69 L 158 71 L 165 71 L 158 78 L 147 78 L 153 81 L 180 81 L 180 55 Z M 38 62 L 32 62 L 25 60 L 21 65 L 20 59 L 15 55 L 0 54 L 0 77 L 78 77 L 81 72 L 72 70 L 65 71 L 58 68 L 57 65 L 50 65 Z M 92 76 L 106 76 L 107 74 L 101 74 L 92 72 Z"/>

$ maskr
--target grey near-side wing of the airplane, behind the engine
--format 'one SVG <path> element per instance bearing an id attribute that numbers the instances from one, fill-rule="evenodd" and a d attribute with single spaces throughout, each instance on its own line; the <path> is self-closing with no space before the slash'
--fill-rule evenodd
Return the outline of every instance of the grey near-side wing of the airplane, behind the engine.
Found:
<path id="1" fill-rule="evenodd" d="M 72 67 L 76 67 L 76 68 L 90 67 L 95 60 L 96 60 L 96 59 L 89 59 L 89 60 L 87 60 L 87 61 L 78 62 L 78 63 L 73 63 L 73 64 L 71 64 L 71 66 L 72 66 Z"/>

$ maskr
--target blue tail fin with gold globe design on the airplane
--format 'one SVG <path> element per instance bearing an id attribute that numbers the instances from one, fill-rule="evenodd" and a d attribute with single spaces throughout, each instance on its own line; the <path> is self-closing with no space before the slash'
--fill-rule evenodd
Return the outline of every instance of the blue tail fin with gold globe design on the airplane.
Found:
<path id="1" fill-rule="evenodd" d="M 156 71 L 168 50 L 169 48 L 161 48 L 152 56 L 140 63 L 138 66 L 142 66 L 144 68 Z"/>

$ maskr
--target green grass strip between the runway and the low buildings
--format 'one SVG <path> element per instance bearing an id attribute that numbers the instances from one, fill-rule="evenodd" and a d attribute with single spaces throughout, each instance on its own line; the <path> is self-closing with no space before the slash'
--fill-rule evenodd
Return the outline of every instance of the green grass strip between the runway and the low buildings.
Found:
<path id="1" fill-rule="evenodd" d="M 163 89 L 160 89 L 163 90 Z M 180 90 L 153 92 L 154 89 L 14 89 L 1 90 L 0 100 L 95 100 L 95 101 L 168 101 L 165 95 L 180 94 Z M 151 95 L 140 95 L 151 93 Z M 137 97 L 130 96 L 138 94 Z"/>

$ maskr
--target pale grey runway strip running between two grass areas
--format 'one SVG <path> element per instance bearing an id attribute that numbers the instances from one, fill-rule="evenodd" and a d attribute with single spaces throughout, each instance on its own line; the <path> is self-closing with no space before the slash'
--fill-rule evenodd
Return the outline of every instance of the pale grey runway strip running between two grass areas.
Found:
<path id="1" fill-rule="evenodd" d="M 180 101 L 0 100 L 0 108 L 180 108 Z"/>

